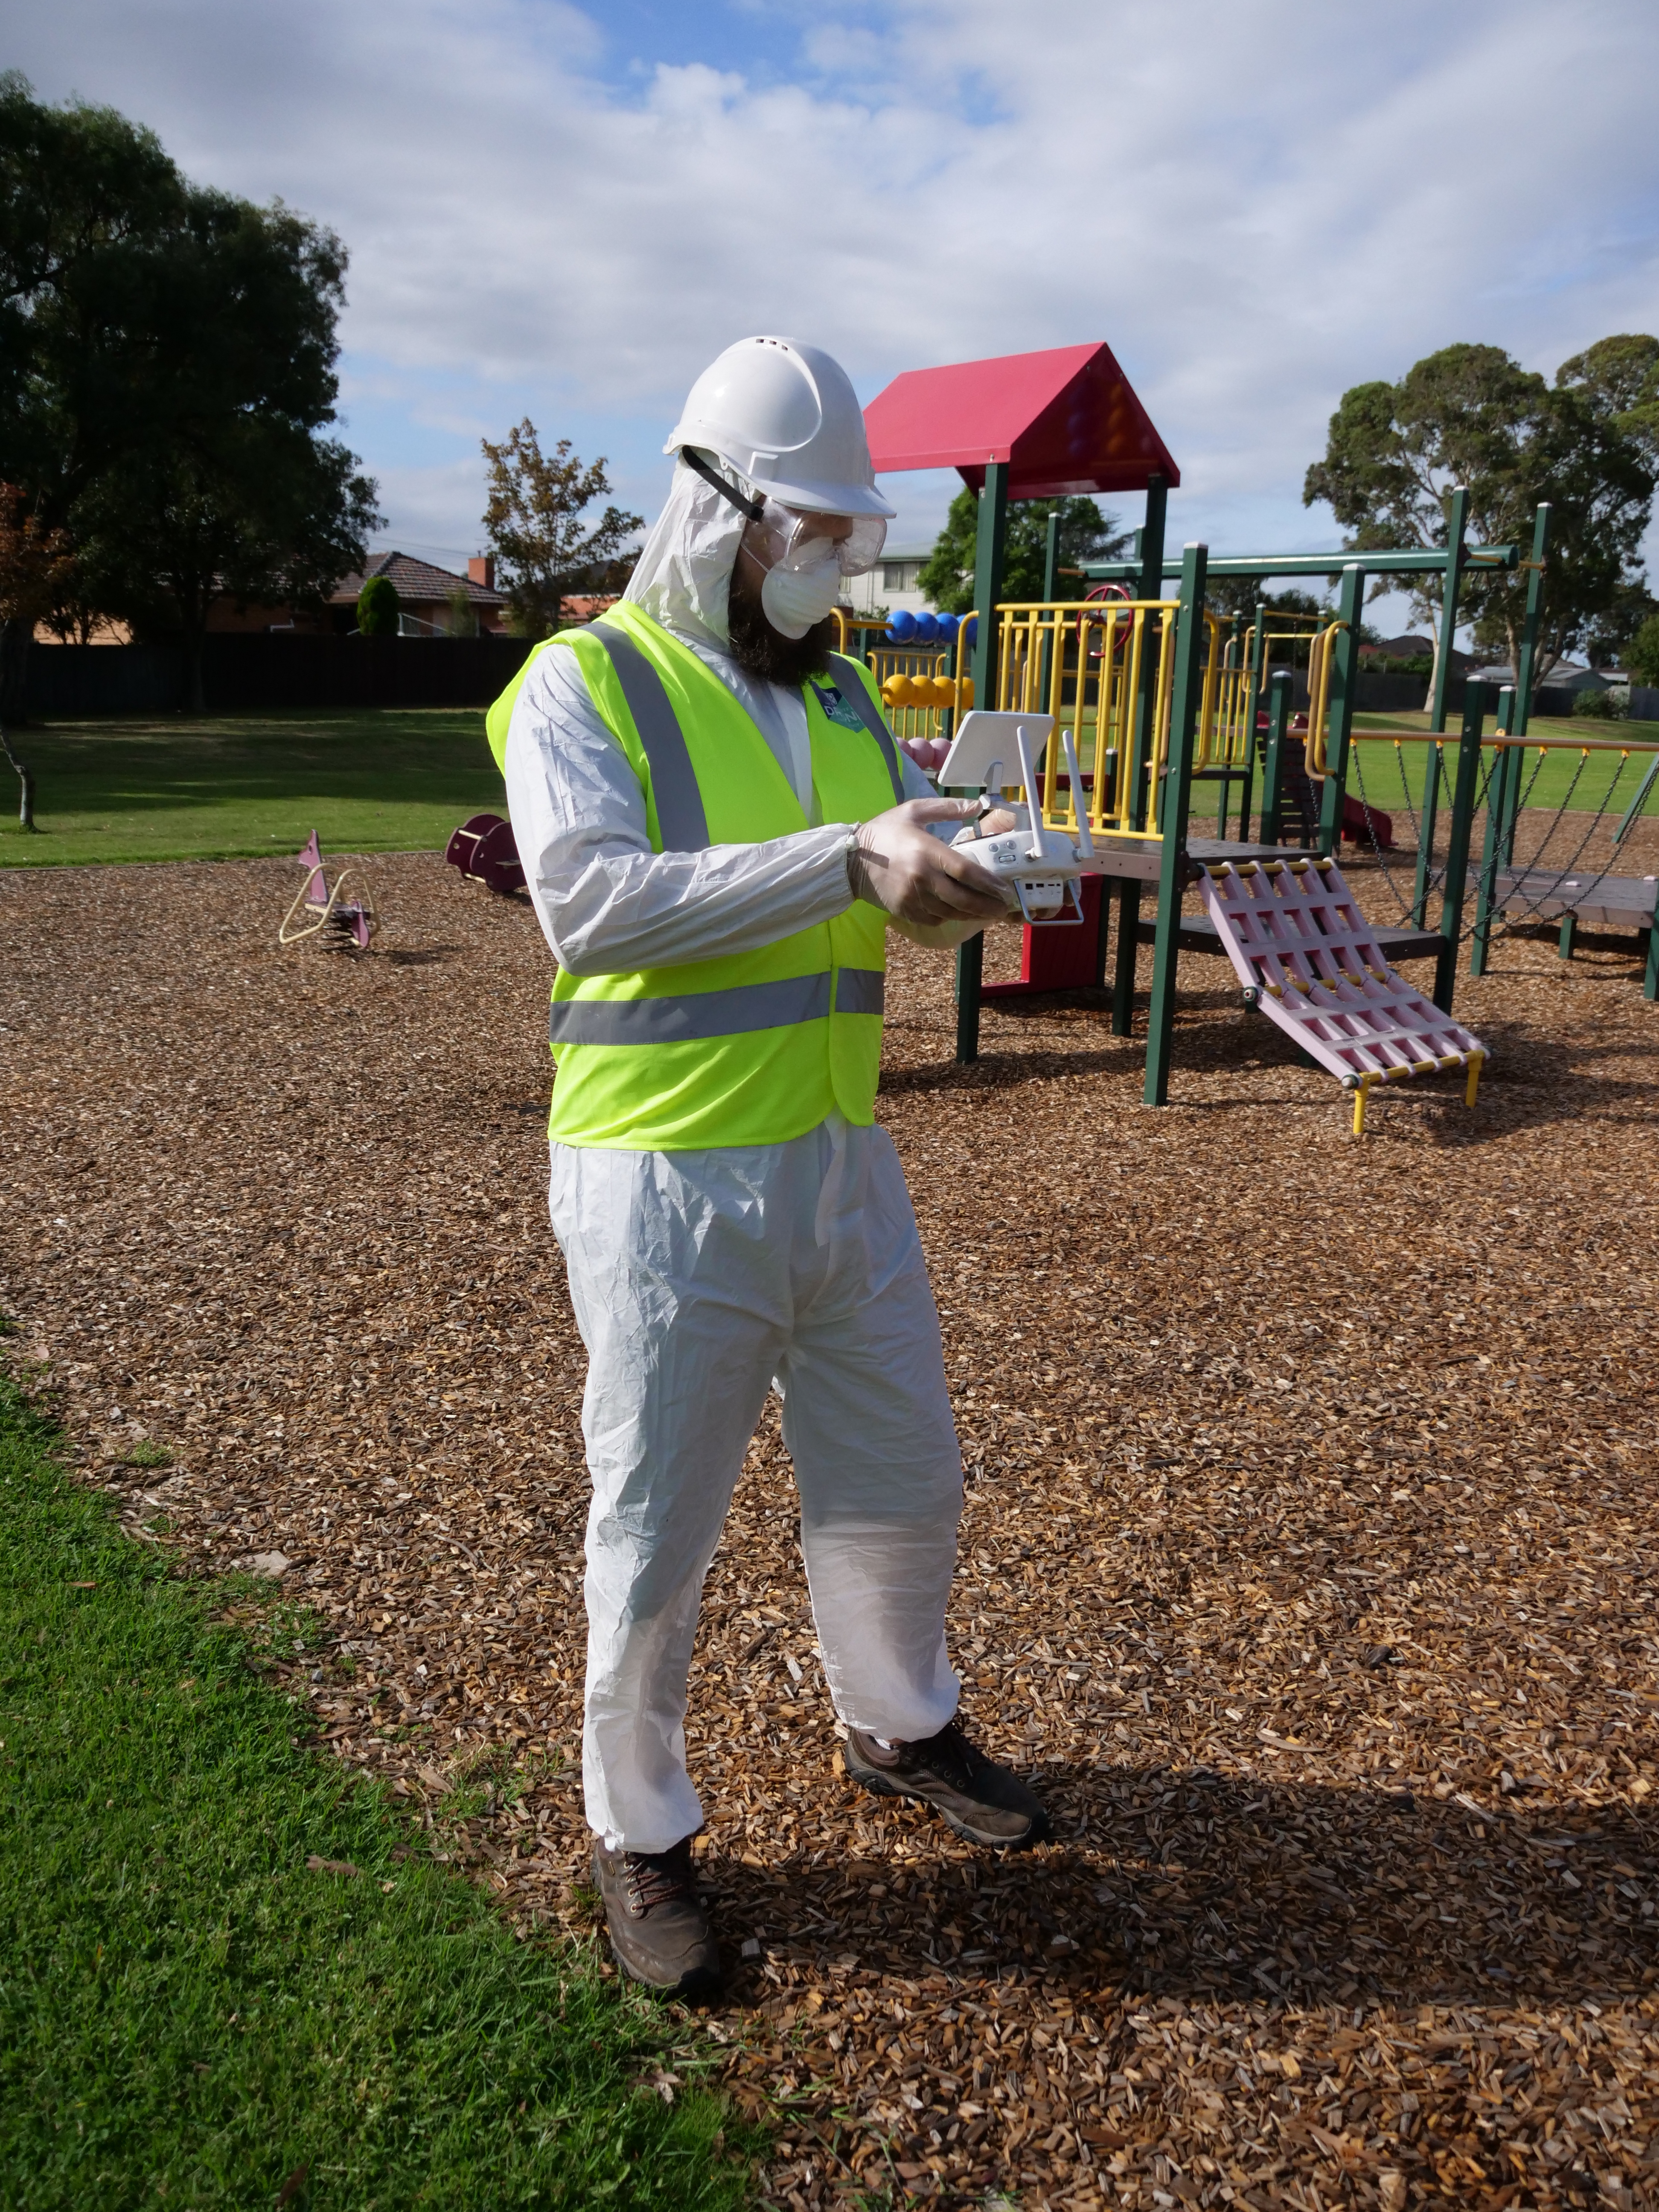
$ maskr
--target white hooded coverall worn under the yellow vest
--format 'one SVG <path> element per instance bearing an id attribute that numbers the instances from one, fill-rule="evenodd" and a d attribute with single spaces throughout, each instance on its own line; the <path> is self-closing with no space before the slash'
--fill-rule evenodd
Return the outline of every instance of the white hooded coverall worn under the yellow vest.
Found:
<path id="1" fill-rule="evenodd" d="M 628 597 L 743 701 L 814 823 L 799 690 L 745 677 L 726 650 L 741 531 L 741 513 L 675 469 Z M 907 796 L 929 796 L 911 763 L 905 779 Z M 575 975 L 750 951 L 849 905 L 849 823 L 655 854 L 639 781 L 557 646 L 518 695 L 507 796 L 542 931 Z M 772 1146 L 553 1144 L 549 1208 L 588 1349 L 586 1816 L 613 1851 L 666 1851 L 703 1820 L 686 1674 L 768 1387 L 783 1400 L 836 1714 L 889 1741 L 953 1717 L 945 1601 L 962 1460 L 938 1314 L 894 1144 L 838 1113 Z"/>

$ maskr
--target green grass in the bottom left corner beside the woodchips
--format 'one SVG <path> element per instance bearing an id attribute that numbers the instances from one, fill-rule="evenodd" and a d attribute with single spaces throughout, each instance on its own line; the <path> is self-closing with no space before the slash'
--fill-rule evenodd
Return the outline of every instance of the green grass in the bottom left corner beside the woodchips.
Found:
<path id="1" fill-rule="evenodd" d="M 635 2086 L 695 2031 L 296 1745 L 250 1661 L 307 1666 L 303 1621 L 215 1624 L 51 1444 L 0 1376 L 7 2212 L 737 2208 L 759 2146 L 699 2053 L 672 2106 Z"/>

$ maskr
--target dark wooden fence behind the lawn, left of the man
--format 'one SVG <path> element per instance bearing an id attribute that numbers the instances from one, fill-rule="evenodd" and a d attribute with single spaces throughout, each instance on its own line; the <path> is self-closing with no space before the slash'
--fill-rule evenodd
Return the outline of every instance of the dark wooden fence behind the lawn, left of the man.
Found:
<path id="1" fill-rule="evenodd" d="M 522 637 L 208 637 L 208 712 L 354 706 L 489 706 L 531 648 Z M 184 646 L 31 646 L 29 712 L 177 714 Z"/>

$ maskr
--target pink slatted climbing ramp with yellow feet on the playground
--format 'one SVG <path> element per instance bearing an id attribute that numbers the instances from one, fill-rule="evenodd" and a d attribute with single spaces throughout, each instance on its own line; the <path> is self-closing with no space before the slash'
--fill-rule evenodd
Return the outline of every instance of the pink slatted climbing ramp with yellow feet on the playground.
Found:
<path id="1" fill-rule="evenodd" d="M 1199 891 L 1254 1004 L 1356 1093 L 1356 1135 L 1405 1075 L 1467 1068 L 1473 1106 L 1486 1046 L 1394 973 L 1334 860 L 1214 860 Z"/>

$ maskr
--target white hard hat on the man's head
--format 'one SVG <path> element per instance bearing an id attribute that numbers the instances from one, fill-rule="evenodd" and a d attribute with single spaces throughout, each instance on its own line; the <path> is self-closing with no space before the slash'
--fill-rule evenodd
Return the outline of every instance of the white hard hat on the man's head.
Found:
<path id="1" fill-rule="evenodd" d="M 695 445 L 785 507 L 891 515 L 847 372 L 816 345 L 739 338 L 690 387 L 664 453 Z"/>

